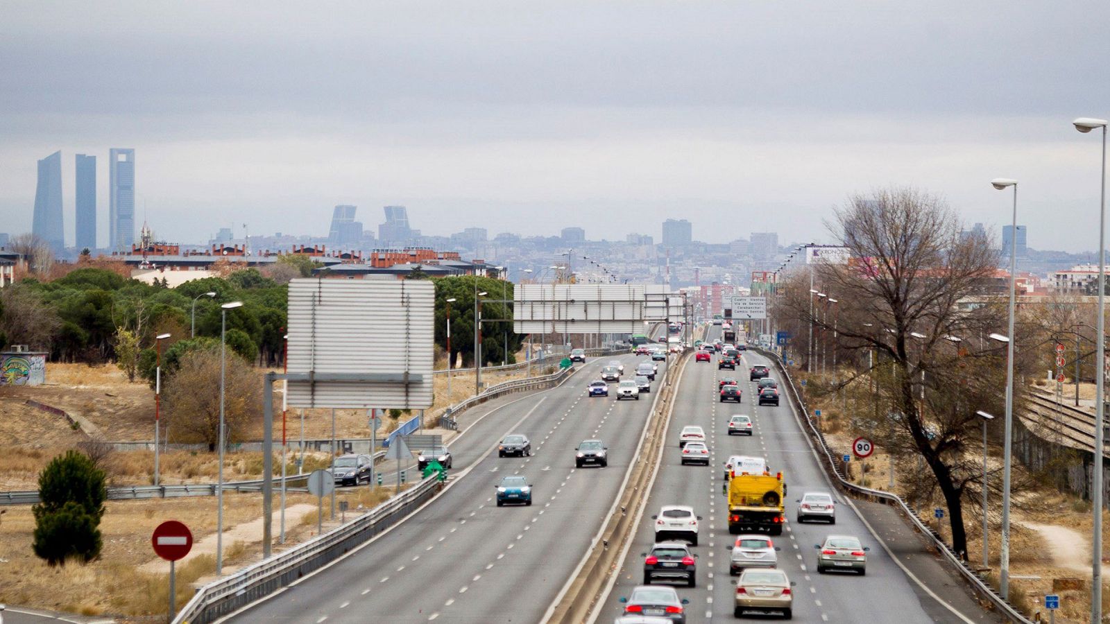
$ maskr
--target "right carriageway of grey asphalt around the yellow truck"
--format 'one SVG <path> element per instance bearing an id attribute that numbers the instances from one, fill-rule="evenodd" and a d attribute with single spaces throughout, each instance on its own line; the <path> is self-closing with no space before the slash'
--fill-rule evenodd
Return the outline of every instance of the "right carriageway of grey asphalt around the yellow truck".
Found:
<path id="1" fill-rule="evenodd" d="M 709 340 L 719 338 L 720 328 L 710 329 Z M 689 362 L 675 399 L 674 415 L 668 425 L 667 444 L 663 462 L 637 529 L 635 542 L 628 550 L 619 577 L 603 605 L 598 622 L 612 622 L 623 612 L 619 596 L 627 596 L 632 588 L 643 583 L 643 557 L 654 542 L 653 514 L 664 504 L 693 505 L 703 517 L 699 523 L 697 553 L 697 586 L 678 587 L 678 594 L 688 598 L 687 622 L 734 621 L 734 592 L 736 577 L 729 576 L 728 546 L 735 536 L 728 533 L 727 500 L 723 494 L 723 464 L 730 454 L 760 455 L 767 459 L 771 472 L 784 473 L 788 492 L 787 526 L 780 536 L 773 537 L 778 552 L 779 567 L 785 570 L 794 587 L 794 617 L 801 622 L 958 622 L 945 606 L 920 592 L 886 555 L 845 497 L 834 490 L 817 463 L 795 419 L 794 409 L 786 396 L 779 406 L 756 405 L 755 383 L 748 381 L 748 369 L 754 364 L 771 366 L 767 358 L 751 351 L 745 352 L 745 364 L 731 371 L 717 371 L 717 358 L 712 363 Z M 771 366 L 773 376 L 776 375 Z M 743 404 L 720 403 L 717 380 L 733 376 L 744 392 Z M 786 392 L 783 385 L 779 386 Z M 748 414 L 755 421 L 755 434 L 729 436 L 727 423 L 733 414 Z M 708 467 L 679 464 L 678 432 L 684 425 L 705 429 L 713 452 Z M 673 440 L 672 440 L 673 439 Z M 806 491 L 831 492 L 837 500 L 835 526 L 824 523 L 797 524 L 795 500 Z M 830 533 L 858 536 L 870 546 L 867 575 L 817 574 L 814 544 Z M 976 613 L 969 615 L 975 618 Z M 760 617 L 755 615 L 753 617 Z M 765 617 L 765 616 L 764 616 Z M 774 616 L 773 618 L 778 618 Z"/>

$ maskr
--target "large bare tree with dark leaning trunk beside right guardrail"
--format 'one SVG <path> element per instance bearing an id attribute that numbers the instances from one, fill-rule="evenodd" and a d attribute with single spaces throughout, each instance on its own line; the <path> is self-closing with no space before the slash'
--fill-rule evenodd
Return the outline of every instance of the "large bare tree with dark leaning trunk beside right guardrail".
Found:
<path id="1" fill-rule="evenodd" d="M 967 303 L 991 292 L 997 252 L 983 236 L 961 235 L 942 200 L 912 189 L 852 197 L 828 227 L 851 256 L 813 266 L 818 289 L 838 300 L 839 345 L 872 352 L 857 361 L 871 363 L 864 369 L 889 410 L 879 414 L 877 404 L 874 426 L 928 466 L 952 545 L 966 552 L 963 497 L 981 480 L 969 453 L 976 411 L 1000 413 L 1005 388 L 1005 354 L 986 339 L 1005 326 L 1005 309 Z M 796 326 L 833 330 L 827 314 L 810 314 L 806 281 L 787 288 L 784 308 Z"/>

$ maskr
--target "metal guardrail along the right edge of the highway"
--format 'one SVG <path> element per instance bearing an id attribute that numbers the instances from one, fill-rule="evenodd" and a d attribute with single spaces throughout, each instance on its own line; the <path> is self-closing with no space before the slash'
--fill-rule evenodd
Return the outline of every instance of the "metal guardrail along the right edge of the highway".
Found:
<path id="1" fill-rule="evenodd" d="M 942 542 L 931 529 L 929 529 L 924 522 L 921 522 L 921 519 L 918 517 L 915 510 L 911 509 L 909 505 L 907 505 L 906 502 L 902 501 L 901 496 L 882 490 L 872 490 L 870 487 L 864 487 L 862 485 L 857 485 L 846 480 L 844 477 L 844 474 L 841 474 L 840 472 L 840 466 L 836 462 L 834 453 L 829 450 L 828 444 L 825 443 L 825 435 L 823 435 L 821 432 L 819 432 L 817 427 L 814 426 L 814 421 L 813 419 L 809 417 L 809 410 L 806 407 L 806 402 L 801 399 L 801 393 L 798 392 L 798 389 L 794 385 L 794 379 L 790 378 L 789 371 L 783 363 L 783 359 L 773 351 L 767 351 L 760 348 L 753 348 L 753 349 L 755 349 L 763 355 L 770 358 L 770 360 L 775 362 L 775 364 L 781 371 L 783 379 L 785 379 L 787 384 L 789 384 L 790 386 L 790 393 L 794 402 L 797 404 L 797 406 L 801 410 L 801 413 L 805 415 L 805 419 L 803 420 L 808 425 L 811 437 L 814 437 L 820 444 L 820 450 L 825 453 L 825 457 L 828 460 L 829 467 L 831 469 L 830 472 L 833 473 L 833 476 L 835 476 L 837 481 L 840 482 L 841 487 L 848 490 L 849 492 L 860 494 L 864 496 L 869 496 L 871 499 L 878 499 L 887 504 L 894 504 L 901 507 L 902 513 L 907 517 L 909 517 L 910 522 L 914 523 L 914 525 L 922 535 L 926 535 L 928 537 L 928 540 L 932 543 L 934 547 L 936 547 L 937 551 L 941 553 L 945 560 L 947 560 L 948 563 L 951 564 L 960 573 L 961 576 L 963 576 L 963 578 L 972 586 L 972 588 L 975 588 L 980 594 L 985 595 L 987 600 L 989 600 L 991 604 L 993 604 L 998 608 L 998 611 L 1002 613 L 1002 615 L 1005 615 L 1011 622 L 1018 622 L 1020 624 L 1035 624 L 1032 620 L 1029 620 L 1028 617 L 1019 613 L 1018 610 L 1013 607 L 1013 605 L 1011 605 L 1005 597 L 1000 596 L 995 591 L 993 587 L 988 585 L 982 580 L 982 577 L 979 576 L 978 573 L 968 567 L 968 565 L 963 562 L 963 560 L 960 558 L 960 556 L 957 553 L 952 552 L 951 547 L 949 547 L 948 544 Z"/>

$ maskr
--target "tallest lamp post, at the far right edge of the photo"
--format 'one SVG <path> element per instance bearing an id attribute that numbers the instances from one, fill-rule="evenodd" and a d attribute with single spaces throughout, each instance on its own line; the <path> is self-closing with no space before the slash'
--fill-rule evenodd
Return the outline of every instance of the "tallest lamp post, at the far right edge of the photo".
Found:
<path id="1" fill-rule="evenodd" d="M 1094 527 L 1091 543 L 1091 622 L 1102 622 L 1102 432 L 1106 416 L 1106 220 L 1107 220 L 1107 120 L 1081 117 L 1071 122 L 1076 130 L 1090 132 L 1102 129 L 1102 175 L 1099 194 L 1099 312 L 1094 344 L 1094 470 L 1091 475 L 1091 503 Z"/>

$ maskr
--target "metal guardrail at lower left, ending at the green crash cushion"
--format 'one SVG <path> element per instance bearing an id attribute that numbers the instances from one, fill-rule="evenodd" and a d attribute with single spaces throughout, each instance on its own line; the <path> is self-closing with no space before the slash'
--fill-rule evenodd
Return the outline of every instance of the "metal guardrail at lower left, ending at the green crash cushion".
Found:
<path id="1" fill-rule="evenodd" d="M 426 479 L 342 526 L 200 587 L 173 624 L 206 624 L 276 592 L 396 524 L 440 489 Z"/>

